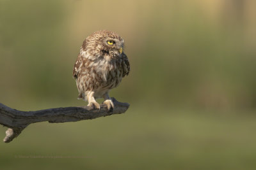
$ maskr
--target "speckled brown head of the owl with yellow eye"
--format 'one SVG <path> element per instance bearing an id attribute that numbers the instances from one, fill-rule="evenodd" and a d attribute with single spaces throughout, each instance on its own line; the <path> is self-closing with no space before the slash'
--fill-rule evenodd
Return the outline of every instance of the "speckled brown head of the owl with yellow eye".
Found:
<path id="1" fill-rule="evenodd" d="M 96 31 L 85 39 L 82 48 L 95 57 L 117 57 L 123 53 L 124 39 L 112 31 Z"/>

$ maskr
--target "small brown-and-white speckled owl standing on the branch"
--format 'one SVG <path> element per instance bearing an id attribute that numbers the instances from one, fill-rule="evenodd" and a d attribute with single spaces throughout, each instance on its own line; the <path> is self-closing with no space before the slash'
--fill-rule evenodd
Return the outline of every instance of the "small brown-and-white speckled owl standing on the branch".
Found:
<path id="1" fill-rule="evenodd" d="M 117 87 L 130 71 L 123 48 L 124 39 L 112 31 L 96 31 L 83 41 L 73 69 L 78 99 L 100 109 L 95 99 L 103 98 L 108 110 L 115 107 L 108 92 Z"/>

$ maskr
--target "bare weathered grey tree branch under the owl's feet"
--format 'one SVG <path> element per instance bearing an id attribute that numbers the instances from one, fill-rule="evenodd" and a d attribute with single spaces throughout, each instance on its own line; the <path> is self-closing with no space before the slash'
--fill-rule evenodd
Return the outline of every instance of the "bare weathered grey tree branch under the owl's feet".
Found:
<path id="1" fill-rule="evenodd" d="M 64 123 L 77 122 L 98 117 L 106 117 L 113 114 L 124 113 L 128 108 L 128 103 L 120 103 L 112 98 L 115 108 L 108 111 L 106 104 L 100 105 L 100 110 L 90 106 L 51 108 L 38 111 L 14 110 L 0 103 L 0 124 L 9 127 L 6 131 L 5 143 L 9 143 L 19 136 L 23 129 L 29 124 L 36 122 Z"/>

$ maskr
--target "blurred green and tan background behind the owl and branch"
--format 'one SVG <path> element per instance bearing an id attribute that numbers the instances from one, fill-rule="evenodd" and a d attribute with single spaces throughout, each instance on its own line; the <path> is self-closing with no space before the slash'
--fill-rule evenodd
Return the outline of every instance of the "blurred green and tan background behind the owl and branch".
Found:
<path id="1" fill-rule="evenodd" d="M 131 104 L 125 114 L 29 125 L 0 143 L 1 169 L 255 169 L 255 6 L 0 0 L 0 102 L 11 108 L 85 105 L 72 67 L 94 31 L 118 32 L 131 63 L 110 93 Z"/>

